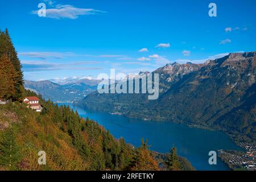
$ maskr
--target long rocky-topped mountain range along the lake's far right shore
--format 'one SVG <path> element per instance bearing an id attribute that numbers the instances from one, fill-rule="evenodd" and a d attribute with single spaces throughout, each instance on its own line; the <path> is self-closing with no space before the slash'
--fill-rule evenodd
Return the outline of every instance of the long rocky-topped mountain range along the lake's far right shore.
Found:
<path id="1" fill-rule="evenodd" d="M 256 140 L 256 52 L 231 53 L 205 64 L 167 64 L 158 100 L 146 94 L 91 93 L 79 104 L 127 117 L 187 123 Z M 238 137 L 239 136 L 239 137 Z"/>

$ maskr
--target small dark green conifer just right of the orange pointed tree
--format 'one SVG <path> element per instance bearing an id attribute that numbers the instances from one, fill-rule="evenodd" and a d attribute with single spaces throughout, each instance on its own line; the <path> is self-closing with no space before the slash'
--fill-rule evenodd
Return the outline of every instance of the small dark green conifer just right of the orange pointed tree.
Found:
<path id="1" fill-rule="evenodd" d="M 171 171 L 181 171 L 182 164 L 180 162 L 179 155 L 177 155 L 177 149 L 173 147 L 170 153 L 167 154 L 167 159 L 165 161 L 166 166 Z"/>

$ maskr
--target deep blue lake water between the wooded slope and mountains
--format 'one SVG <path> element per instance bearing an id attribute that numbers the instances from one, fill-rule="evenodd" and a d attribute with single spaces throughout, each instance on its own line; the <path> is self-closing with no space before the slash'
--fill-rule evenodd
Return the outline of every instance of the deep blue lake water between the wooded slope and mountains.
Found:
<path id="1" fill-rule="evenodd" d="M 178 154 L 191 162 L 197 170 L 229 170 L 217 159 L 217 165 L 209 165 L 209 151 L 241 150 L 227 135 L 220 131 L 209 131 L 172 122 L 143 121 L 108 113 L 91 113 L 73 107 L 81 117 L 89 117 L 109 130 L 115 138 L 123 137 L 127 143 L 140 146 L 141 138 L 148 139 L 150 149 L 168 152 L 175 146 Z"/>

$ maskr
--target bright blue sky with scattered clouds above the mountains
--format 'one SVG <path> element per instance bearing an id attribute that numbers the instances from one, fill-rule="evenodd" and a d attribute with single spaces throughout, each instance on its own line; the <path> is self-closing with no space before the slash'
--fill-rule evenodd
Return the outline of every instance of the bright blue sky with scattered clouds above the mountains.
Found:
<path id="1" fill-rule="evenodd" d="M 46 17 L 37 15 L 46 3 Z M 217 5 L 217 17 L 208 5 Z M 154 71 L 167 63 L 203 63 L 256 51 L 254 0 L 3 1 L 27 80 Z"/>

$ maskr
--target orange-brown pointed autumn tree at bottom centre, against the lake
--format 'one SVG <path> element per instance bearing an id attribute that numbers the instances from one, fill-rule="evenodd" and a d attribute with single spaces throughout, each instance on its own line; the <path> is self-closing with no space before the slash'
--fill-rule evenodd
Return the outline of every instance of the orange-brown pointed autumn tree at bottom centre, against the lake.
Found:
<path id="1" fill-rule="evenodd" d="M 137 148 L 137 154 L 135 156 L 135 165 L 132 168 L 134 171 L 158 171 L 158 163 L 148 150 L 147 140 L 141 140 L 141 147 Z"/>

